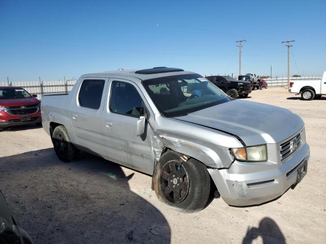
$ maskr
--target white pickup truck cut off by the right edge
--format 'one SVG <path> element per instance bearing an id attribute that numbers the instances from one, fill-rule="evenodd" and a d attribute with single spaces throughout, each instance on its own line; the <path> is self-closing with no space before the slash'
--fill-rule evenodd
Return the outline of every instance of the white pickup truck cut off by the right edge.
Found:
<path id="1" fill-rule="evenodd" d="M 321 95 L 326 95 L 326 71 L 321 80 L 292 80 L 289 92 L 301 94 L 306 101 L 321 98 Z"/>

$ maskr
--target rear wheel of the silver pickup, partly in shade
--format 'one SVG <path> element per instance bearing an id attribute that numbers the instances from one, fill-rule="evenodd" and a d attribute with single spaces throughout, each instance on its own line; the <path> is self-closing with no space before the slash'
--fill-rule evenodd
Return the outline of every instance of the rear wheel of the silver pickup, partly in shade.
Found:
<path id="1" fill-rule="evenodd" d="M 77 149 L 71 143 L 68 132 L 64 126 L 57 126 L 52 133 L 52 143 L 56 155 L 63 162 L 71 162 L 77 154 Z"/>

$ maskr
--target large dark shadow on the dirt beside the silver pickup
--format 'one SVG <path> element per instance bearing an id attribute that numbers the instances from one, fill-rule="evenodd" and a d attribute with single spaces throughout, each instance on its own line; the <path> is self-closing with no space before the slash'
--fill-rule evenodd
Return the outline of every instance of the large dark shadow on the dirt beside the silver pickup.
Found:
<path id="1" fill-rule="evenodd" d="M 170 243 L 167 220 L 130 190 L 132 176 L 86 154 L 63 163 L 53 148 L 0 158 L 2 191 L 35 243 Z"/>

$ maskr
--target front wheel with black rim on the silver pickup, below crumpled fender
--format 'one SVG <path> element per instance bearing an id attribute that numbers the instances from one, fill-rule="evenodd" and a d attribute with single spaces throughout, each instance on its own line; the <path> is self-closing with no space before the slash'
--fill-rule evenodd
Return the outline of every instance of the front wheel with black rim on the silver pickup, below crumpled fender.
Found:
<path id="1" fill-rule="evenodd" d="M 153 174 L 157 198 L 181 212 L 202 210 L 210 194 L 210 176 L 206 167 L 195 159 L 182 162 L 181 155 L 167 151 L 161 156 Z"/>

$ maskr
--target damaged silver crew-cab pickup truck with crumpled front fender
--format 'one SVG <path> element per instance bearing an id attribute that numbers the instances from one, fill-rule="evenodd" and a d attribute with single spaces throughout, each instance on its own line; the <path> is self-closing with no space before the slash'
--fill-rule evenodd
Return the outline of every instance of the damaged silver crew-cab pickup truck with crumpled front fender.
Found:
<path id="1" fill-rule="evenodd" d="M 158 199 L 184 212 L 212 192 L 236 206 L 273 200 L 307 172 L 299 116 L 233 100 L 181 69 L 86 74 L 69 94 L 45 96 L 41 111 L 59 159 L 83 150 L 152 175 Z"/>

